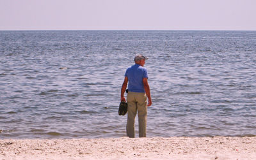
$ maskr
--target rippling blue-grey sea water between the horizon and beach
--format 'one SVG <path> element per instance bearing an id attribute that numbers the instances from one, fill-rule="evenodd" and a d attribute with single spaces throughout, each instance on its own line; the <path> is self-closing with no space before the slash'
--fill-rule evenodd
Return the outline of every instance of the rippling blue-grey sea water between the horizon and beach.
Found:
<path id="1" fill-rule="evenodd" d="M 148 137 L 256 136 L 256 31 L 0 31 L 0 138 L 125 136 L 136 53 Z"/>

